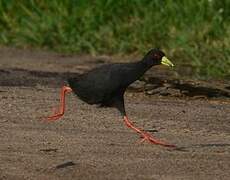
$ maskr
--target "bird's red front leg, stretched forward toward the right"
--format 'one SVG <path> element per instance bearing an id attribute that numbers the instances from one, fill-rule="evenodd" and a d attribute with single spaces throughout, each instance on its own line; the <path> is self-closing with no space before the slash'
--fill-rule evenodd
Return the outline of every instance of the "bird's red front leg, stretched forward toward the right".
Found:
<path id="1" fill-rule="evenodd" d="M 149 133 L 147 133 L 145 131 L 142 131 L 139 128 L 135 127 L 133 125 L 133 123 L 129 121 L 129 119 L 128 119 L 127 116 L 124 116 L 124 121 L 125 121 L 125 124 L 126 124 L 126 126 L 128 128 L 131 128 L 134 131 L 136 131 L 137 133 L 141 134 L 141 136 L 143 137 L 143 140 L 141 142 L 147 140 L 147 141 L 149 141 L 152 144 L 158 144 L 158 145 L 167 146 L 167 147 L 176 147 L 175 145 L 167 144 L 167 143 L 165 143 L 163 141 L 157 140 L 151 134 L 149 134 Z"/>

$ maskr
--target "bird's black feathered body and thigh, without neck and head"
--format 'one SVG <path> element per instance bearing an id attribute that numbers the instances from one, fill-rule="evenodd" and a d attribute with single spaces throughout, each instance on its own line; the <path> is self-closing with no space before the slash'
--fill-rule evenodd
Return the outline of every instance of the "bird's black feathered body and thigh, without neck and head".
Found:
<path id="1" fill-rule="evenodd" d="M 108 64 L 68 82 L 73 92 L 88 104 L 114 106 L 125 115 L 123 94 L 144 73 L 144 69 L 140 72 L 138 68 L 143 68 L 140 63 Z"/>

